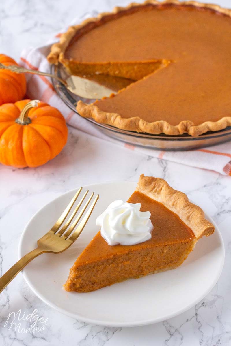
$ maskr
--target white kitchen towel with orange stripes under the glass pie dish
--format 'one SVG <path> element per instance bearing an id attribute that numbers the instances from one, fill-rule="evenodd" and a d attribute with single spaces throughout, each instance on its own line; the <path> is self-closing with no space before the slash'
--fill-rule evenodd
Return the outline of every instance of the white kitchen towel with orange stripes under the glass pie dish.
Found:
<path id="1" fill-rule="evenodd" d="M 82 17 L 81 20 L 88 17 L 94 17 L 96 15 L 96 12 L 87 13 L 87 15 Z M 71 24 L 73 25 L 77 22 L 78 20 L 74 20 Z M 62 32 L 65 30 L 66 28 L 63 29 Z M 57 42 L 60 35 L 60 33 L 56 34 L 55 37 L 53 37 L 45 46 L 24 49 L 20 57 L 21 66 L 33 70 L 50 72 L 50 64 L 47 62 L 46 56 L 50 52 L 51 44 Z M 231 175 L 231 142 L 226 142 L 204 149 L 179 152 L 159 151 L 125 144 L 102 134 L 94 125 L 91 125 L 89 121 L 81 118 L 77 113 L 70 110 L 56 94 L 49 77 L 34 74 L 26 74 L 26 77 L 28 98 L 39 99 L 49 103 L 53 107 L 58 108 L 66 119 L 66 122 L 69 125 L 80 129 L 81 131 L 85 131 L 93 136 L 113 142 L 117 145 L 124 146 L 126 149 L 143 153 L 145 155 L 178 162 L 189 166 L 217 171 L 224 175 Z"/>

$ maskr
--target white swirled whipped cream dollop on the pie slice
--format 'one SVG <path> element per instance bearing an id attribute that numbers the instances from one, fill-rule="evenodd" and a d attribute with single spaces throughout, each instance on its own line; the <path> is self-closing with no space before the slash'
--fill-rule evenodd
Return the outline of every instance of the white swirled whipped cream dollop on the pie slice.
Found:
<path id="1" fill-rule="evenodd" d="M 141 203 L 114 201 L 97 217 L 96 225 L 109 245 L 135 245 L 151 238 L 151 213 L 140 207 Z"/>

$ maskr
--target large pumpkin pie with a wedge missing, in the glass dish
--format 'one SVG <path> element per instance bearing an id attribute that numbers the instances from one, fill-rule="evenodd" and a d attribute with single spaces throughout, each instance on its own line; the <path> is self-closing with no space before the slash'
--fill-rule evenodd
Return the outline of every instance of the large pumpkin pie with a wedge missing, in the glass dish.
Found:
<path id="1" fill-rule="evenodd" d="M 231 126 L 231 10 L 196 1 L 132 3 L 72 26 L 48 61 L 134 82 L 83 117 L 124 130 L 197 136 Z"/>

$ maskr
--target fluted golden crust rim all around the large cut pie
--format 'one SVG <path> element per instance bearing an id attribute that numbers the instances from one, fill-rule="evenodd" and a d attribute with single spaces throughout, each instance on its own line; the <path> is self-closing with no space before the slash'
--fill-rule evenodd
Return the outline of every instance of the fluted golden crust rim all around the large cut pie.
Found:
<path id="1" fill-rule="evenodd" d="M 97 25 L 109 20 L 112 16 L 115 16 L 117 13 L 130 10 L 137 7 L 147 6 L 147 5 L 158 5 L 164 6 L 165 4 L 179 5 L 179 6 L 193 6 L 197 8 L 205 8 L 211 9 L 216 12 L 220 12 L 224 15 L 231 17 L 231 10 L 221 8 L 218 5 L 214 4 L 205 4 L 197 1 L 178 1 L 178 0 L 166 0 L 163 2 L 159 2 L 156 0 L 148 0 L 143 4 L 139 3 L 131 3 L 127 7 L 116 7 L 112 12 L 100 13 L 97 18 L 89 18 L 83 21 L 80 25 L 75 25 L 69 27 L 66 33 L 62 34 L 59 43 L 55 43 L 51 47 L 51 52 L 48 55 L 47 59 L 50 63 L 57 64 L 58 62 L 62 63 L 66 67 L 68 64 L 71 64 L 71 61 L 66 59 L 64 53 L 66 48 L 68 47 L 71 39 L 74 36 L 82 36 L 84 33 L 92 30 Z M 164 57 L 163 57 L 164 58 Z M 145 78 L 145 77 L 144 77 Z M 128 86 L 129 88 L 129 86 Z M 123 92 L 123 89 L 120 90 Z M 112 94 L 113 97 L 113 94 Z M 119 113 L 106 112 L 101 110 L 97 106 L 97 102 L 95 104 L 86 104 L 82 101 L 79 101 L 77 104 L 77 111 L 82 117 L 93 118 L 99 123 L 108 124 L 119 129 L 149 133 L 149 134 L 160 134 L 164 133 L 167 135 L 181 135 L 184 133 L 188 133 L 192 136 L 198 136 L 207 131 L 219 131 L 227 126 L 231 126 L 231 116 L 222 117 L 217 121 L 205 121 L 202 124 L 195 125 L 193 121 L 183 120 L 180 121 L 177 125 L 171 125 L 168 121 L 158 120 L 154 122 L 148 122 L 144 119 L 136 116 L 131 118 L 125 118 L 119 115 Z"/>

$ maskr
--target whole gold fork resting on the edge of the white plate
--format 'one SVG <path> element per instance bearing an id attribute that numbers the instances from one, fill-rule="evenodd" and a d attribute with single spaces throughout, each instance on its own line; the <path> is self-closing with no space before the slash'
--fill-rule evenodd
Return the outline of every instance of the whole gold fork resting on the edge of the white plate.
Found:
<path id="1" fill-rule="evenodd" d="M 91 203 L 91 206 L 89 207 L 86 215 L 83 217 L 82 221 L 80 222 L 77 229 L 73 232 L 75 227 L 77 226 L 79 220 L 81 219 L 83 213 L 88 207 L 88 204 L 90 203 L 94 192 L 90 195 L 88 201 L 86 202 L 85 206 L 80 211 L 77 218 L 74 220 L 74 222 L 71 224 L 71 221 L 75 217 L 77 211 L 79 210 L 83 200 L 85 199 L 86 195 L 88 194 L 89 190 L 85 192 L 83 197 L 81 198 L 80 202 L 78 203 L 77 207 L 72 212 L 69 219 L 65 222 L 64 226 L 60 229 L 61 225 L 63 224 L 65 218 L 70 213 L 75 201 L 77 200 L 80 192 L 82 190 L 82 187 L 77 191 L 77 193 L 74 195 L 66 209 L 63 211 L 60 218 L 55 222 L 54 226 L 48 231 L 42 238 L 37 240 L 37 248 L 30 251 L 28 254 L 23 256 L 17 263 L 15 263 L 2 277 L 0 277 L 0 293 L 5 289 L 5 287 L 10 283 L 12 279 L 35 257 L 38 255 L 44 254 L 46 252 L 52 253 L 52 254 L 59 254 L 66 250 L 71 244 L 74 243 L 74 241 L 79 237 L 80 233 L 82 232 L 83 228 L 85 227 L 92 210 L 94 209 L 96 202 L 99 198 L 99 195 L 96 196 L 94 201 Z M 70 226 L 70 227 L 69 227 Z M 68 228 L 69 227 L 69 228 Z M 60 229 L 60 230 L 59 230 Z M 73 233 L 72 233 L 73 232 Z M 71 234 L 72 233 L 72 234 Z M 69 237 L 70 236 L 70 237 Z"/>

